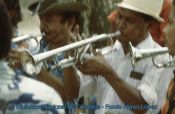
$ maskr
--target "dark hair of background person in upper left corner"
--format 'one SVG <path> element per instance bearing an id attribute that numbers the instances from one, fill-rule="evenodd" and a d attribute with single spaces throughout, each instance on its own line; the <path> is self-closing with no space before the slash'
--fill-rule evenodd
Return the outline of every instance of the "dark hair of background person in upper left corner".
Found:
<path id="1" fill-rule="evenodd" d="M 8 11 L 15 11 L 16 17 L 11 19 L 13 26 L 17 26 L 18 22 L 22 21 L 21 7 L 19 0 L 4 0 Z"/>

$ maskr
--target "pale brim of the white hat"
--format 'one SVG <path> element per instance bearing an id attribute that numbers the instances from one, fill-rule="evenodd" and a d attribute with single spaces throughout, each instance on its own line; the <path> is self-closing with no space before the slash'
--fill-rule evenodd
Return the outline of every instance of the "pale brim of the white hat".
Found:
<path id="1" fill-rule="evenodd" d="M 154 14 L 151 14 L 150 12 L 144 11 L 143 9 L 141 10 L 139 8 L 133 7 L 133 6 L 129 5 L 129 4 L 127 4 L 127 3 L 118 3 L 117 6 L 121 7 L 121 8 L 129 9 L 129 10 L 132 10 L 132 11 L 136 11 L 136 12 L 139 12 L 139 13 L 146 14 L 148 16 L 153 17 L 154 19 L 156 19 L 159 22 L 164 22 L 164 19 L 161 18 L 160 16 L 156 16 Z"/>

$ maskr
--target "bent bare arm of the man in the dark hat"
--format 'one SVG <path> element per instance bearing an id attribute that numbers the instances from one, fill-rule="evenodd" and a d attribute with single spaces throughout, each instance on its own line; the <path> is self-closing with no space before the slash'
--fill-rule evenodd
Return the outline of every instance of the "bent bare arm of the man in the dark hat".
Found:
<path id="1" fill-rule="evenodd" d="M 64 69 L 63 82 L 44 69 L 39 73 L 38 80 L 53 87 L 61 95 L 64 102 L 78 98 L 79 80 L 73 67 Z"/>

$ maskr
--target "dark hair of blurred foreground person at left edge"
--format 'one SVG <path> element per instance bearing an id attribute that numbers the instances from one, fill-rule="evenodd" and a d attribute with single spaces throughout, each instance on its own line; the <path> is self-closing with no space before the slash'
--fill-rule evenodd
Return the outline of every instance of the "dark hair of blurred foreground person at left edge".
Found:
<path id="1" fill-rule="evenodd" d="M 8 11 L 0 0 L 0 59 L 5 58 L 10 50 L 10 43 L 12 38 L 12 28 Z"/>

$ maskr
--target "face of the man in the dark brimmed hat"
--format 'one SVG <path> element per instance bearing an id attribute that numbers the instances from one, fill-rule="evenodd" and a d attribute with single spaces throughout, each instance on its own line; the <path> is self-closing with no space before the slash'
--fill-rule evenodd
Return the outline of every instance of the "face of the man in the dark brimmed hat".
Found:
<path id="1" fill-rule="evenodd" d="M 45 32 L 45 40 L 49 45 L 56 48 L 67 44 L 71 27 L 61 15 L 40 15 L 40 28 Z"/>

